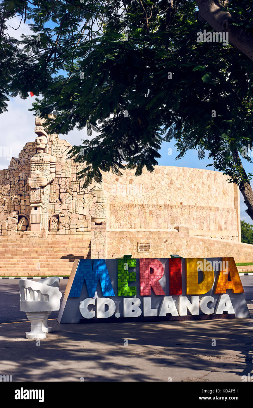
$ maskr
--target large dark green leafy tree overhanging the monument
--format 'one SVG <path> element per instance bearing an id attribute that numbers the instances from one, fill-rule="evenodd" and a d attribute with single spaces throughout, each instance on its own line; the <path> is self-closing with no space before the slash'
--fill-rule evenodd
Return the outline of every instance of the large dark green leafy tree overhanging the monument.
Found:
<path id="1" fill-rule="evenodd" d="M 250 0 L 3 4 L 2 109 L 10 93 L 25 98 L 33 91 L 44 97 L 34 104 L 37 114 L 57 111 L 48 131 L 97 131 L 72 151 L 87 164 L 85 186 L 100 181 L 101 171 L 153 171 L 161 143 L 174 137 L 178 157 L 188 149 L 197 148 L 199 158 L 210 152 L 216 169 L 239 185 L 253 219 L 252 175 L 242 165 L 251 158 L 241 155 L 253 144 Z M 17 7 L 33 20 L 34 35 L 21 44 L 6 33 Z M 208 23 L 229 32 L 228 45 L 197 42 L 198 32 L 212 31 Z"/>

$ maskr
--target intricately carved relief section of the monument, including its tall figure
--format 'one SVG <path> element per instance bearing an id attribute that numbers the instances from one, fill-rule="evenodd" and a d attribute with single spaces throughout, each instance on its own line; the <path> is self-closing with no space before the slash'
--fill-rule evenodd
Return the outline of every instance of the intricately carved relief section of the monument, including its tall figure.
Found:
<path id="1" fill-rule="evenodd" d="M 35 118 L 35 142 L 27 143 L 8 170 L 0 171 L 1 235 L 48 237 L 93 232 L 92 250 L 105 253 L 108 198 L 100 184 L 83 190 L 77 173 L 84 166 L 68 157 L 71 145 L 48 135 Z M 104 239 L 103 239 L 104 238 Z"/>

